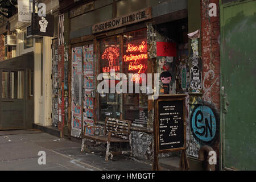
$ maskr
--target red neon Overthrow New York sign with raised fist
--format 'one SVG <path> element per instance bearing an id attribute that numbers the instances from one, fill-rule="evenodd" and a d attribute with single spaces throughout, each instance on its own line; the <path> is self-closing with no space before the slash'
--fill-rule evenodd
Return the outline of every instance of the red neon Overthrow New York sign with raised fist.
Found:
<path id="1" fill-rule="evenodd" d="M 112 69 L 115 70 L 115 72 L 120 71 L 120 67 L 118 64 L 118 58 L 119 58 L 119 48 L 117 47 L 108 47 L 104 50 L 104 52 L 101 55 L 102 60 L 108 60 L 108 67 L 103 67 L 102 72 L 110 72 Z"/>

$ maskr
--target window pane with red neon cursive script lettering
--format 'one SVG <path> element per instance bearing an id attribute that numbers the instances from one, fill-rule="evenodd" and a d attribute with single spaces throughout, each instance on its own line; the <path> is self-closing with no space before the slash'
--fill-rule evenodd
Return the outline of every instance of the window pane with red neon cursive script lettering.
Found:
<path id="1" fill-rule="evenodd" d="M 133 93 L 129 92 L 123 96 L 123 119 L 130 119 L 133 124 L 147 126 L 146 30 L 123 35 L 123 73 L 133 82 Z M 129 77 L 128 74 L 131 73 L 133 76 Z M 139 89 L 136 89 L 136 86 Z"/>

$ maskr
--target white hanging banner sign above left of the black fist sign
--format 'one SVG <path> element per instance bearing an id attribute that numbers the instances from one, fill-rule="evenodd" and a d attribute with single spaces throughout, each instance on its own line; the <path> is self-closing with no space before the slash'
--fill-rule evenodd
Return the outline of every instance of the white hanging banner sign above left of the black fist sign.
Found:
<path id="1" fill-rule="evenodd" d="M 18 20 L 19 22 L 31 22 L 33 12 L 33 0 L 18 1 Z"/>

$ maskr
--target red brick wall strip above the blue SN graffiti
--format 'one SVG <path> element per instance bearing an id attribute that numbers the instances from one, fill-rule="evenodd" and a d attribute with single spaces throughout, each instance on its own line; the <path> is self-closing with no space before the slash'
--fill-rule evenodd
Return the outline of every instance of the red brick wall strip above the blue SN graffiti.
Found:
<path id="1" fill-rule="evenodd" d="M 217 16 L 209 16 L 209 4 L 216 3 Z M 201 1 L 203 100 L 220 111 L 220 13 L 218 0 Z"/>

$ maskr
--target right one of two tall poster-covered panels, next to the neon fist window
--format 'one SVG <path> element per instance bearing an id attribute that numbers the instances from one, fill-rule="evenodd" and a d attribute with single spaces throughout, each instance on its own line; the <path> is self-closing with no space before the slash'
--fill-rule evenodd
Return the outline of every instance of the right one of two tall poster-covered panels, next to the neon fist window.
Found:
<path id="1" fill-rule="evenodd" d="M 83 46 L 84 56 L 84 126 L 93 126 L 94 55 L 93 44 Z M 93 129 L 86 127 L 86 135 L 93 135 Z"/>

